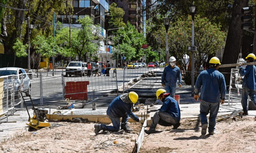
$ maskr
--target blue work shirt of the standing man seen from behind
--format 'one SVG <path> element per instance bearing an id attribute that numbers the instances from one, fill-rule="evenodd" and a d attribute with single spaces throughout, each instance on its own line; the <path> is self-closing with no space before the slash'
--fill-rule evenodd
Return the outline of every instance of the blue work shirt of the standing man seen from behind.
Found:
<path id="1" fill-rule="evenodd" d="M 200 87 L 202 87 L 199 97 L 200 100 L 208 103 L 219 103 L 220 99 L 225 100 L 225 78 L 215 68 L 209 68 L 199 74 L 194 90 L 196 95 L 199 94 Z"/>

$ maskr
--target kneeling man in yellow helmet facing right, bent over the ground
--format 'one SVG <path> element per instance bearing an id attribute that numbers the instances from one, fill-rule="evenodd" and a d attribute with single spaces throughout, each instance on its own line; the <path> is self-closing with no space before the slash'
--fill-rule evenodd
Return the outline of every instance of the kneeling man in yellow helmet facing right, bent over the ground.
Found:
<path id="1" fill-rule="evenodd" d="M 94 132 L 98 134 L 100 130 L 103 131 L 119 131 L 120 130 L 120 118 L 122 118 L 121 129 L 126 132 L 132 131 L 127 126 L 129 116 L 137 121 L 144 122 L 144 120 L 139 120 L 139 118 L 131 111 L 131 108 L 138 101 L 138 94 L 136 92 L 129 92 L 129 94 L 122 94 L 117 96 L 107 108 L 107 116 L 109 116 L 112 121 L 113 126 L 106 126 L 104 124 L 95 124 Z"/>

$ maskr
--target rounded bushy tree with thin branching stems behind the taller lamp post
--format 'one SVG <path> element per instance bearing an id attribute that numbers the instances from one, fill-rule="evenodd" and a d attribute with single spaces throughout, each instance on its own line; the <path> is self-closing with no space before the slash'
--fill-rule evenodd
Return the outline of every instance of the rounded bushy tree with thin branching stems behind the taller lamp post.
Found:
<path id="1" fill-rule="evenodd" d="M 195 51 L 195 71 L 199 71 L 200 66 L 207 60 L 208 55 L 215 54 L 217 50 L 225 45 L 226 35 L 221 31 L 220 27 L 209 22 L 206 17 L 195 16 L 195 37 L 194 44 L 197 46 Z M 181 69 L 186 73 L 187 68 L 185 54 L 191 57 L 191 52 L 187 50 L 187 46 L 191 46 L 192 38 L 192 19 L 188 17 L 180 17 L 176 22 L 170 23 L 168 31 L 168 47 L 170 56 L 176 57 L 180 63 Z M 153 33 L 154 39 L 158 40 L 159 46 L 165 48 L 165 27 L 162 24 L 161 28 Z"/>

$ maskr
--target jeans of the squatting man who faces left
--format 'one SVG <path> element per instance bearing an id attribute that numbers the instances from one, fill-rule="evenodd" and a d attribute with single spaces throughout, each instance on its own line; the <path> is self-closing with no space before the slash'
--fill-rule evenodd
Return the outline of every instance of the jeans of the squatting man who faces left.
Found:
<path id="1" fill-rule="evenodd" d="M 160 119 L 171 124 L 178 123 L 178 121 L 176 121 L 169 113 L 163 111 L 156 111 L 153 116 L 153 123 L 151 124 L 151 127 L 156 128 L 156 125 L 158 125 Z"/>

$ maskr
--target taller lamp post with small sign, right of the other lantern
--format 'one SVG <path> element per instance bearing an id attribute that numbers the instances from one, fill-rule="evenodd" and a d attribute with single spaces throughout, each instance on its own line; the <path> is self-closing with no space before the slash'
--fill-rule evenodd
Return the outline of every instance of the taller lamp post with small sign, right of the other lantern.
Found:
<path id="1" fill-rule="evenodd" d="M 192 46 L 194 46 L 194 18 L 196 13 L 196 6 L 192 5 L 189 7 L 191 16 L 192 16 Z M 195 63 L 194 63 L 194 50 L 192 50 L 192 72 L 191 72 L 191 96 L 194 96 L 194 71 L 195 71 Z"/>

